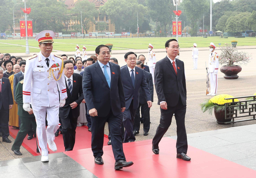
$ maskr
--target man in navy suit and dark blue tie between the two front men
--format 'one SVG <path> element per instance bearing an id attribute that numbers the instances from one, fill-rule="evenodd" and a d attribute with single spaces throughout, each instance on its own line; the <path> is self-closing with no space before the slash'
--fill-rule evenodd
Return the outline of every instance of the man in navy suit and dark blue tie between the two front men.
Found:
<path id="1" fill-rule="evenodd" d="M 125 62 L 127 65 L 121 67 L 120 72 L 123 81 L 123 90 L 125 92 L 125 111 L 123 114 L 123 126 L 125 127 L 124 142 L 134 142 L 133 124 L 136 109 L 139 107 L 139 89 L 146 96 L 148 107 L 152 106 L 151 96 L 145 74 L 142 69 L 136 67 L 137 55 L 134 52 L 125 54 Z M 110 129 L 111 130 L 111 129 Z M 112 130 L 111 130 L 112 132 Z"/>

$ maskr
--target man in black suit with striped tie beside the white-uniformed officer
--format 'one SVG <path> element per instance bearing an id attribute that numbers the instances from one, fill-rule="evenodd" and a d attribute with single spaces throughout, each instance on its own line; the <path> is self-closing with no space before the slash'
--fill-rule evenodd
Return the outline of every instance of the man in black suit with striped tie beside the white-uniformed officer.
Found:
<path id="1" fill-rule="evenodd" d="M 75 145 L 77 118 L 80 115 L 79 105 L 84 99 L 82 76 L 74 73 L 72 60 L 64 61 L 64 74 L 67 88 L 67 99 L 59 108 L 59 118 L 62 124 L 62 136 L 65 151 L 71 151 Z"/>

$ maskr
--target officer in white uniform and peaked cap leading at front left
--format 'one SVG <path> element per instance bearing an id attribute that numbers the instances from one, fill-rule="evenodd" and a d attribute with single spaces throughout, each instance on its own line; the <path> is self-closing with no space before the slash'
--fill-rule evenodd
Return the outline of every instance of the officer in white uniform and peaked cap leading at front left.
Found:
<path id="1" fill-rule="evenodd" d="M 37 143 L 42 162 L 49 161 L 47 143 L 52 151 L 57 150 L 54 133 L 61 125 L 59 107 L 65 105 L 67 98 L 63 60 L 51 53 L 53 37 L 54 32 L 51 30 L 41 31 L 35 37 L 41 51 L 27 58 L 23 83 L 23 109 L 29 112 L 31 103 L 37 122 Z M 45 119 L 48 122 L 47 129 Z"/>

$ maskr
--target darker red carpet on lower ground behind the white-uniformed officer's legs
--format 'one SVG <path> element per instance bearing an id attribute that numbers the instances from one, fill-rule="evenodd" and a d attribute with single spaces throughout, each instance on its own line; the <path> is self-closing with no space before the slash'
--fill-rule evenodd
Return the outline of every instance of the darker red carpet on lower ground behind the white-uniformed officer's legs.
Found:
<path id="1" fill-rule="evenodd" d="M 74 146 L 74 150 L 80 150 L 85 148 L 91 148 L 91 132 L 88 131 L 87 126 L 82 127 L 76 127 L 76 142 Z M 13 129 L 11 126 L 9 126 L 9 132 L 10 135 L 15 139 L 18 133 L 18 129 Z M 34 137 L 32 140 L 27 140 L 27 136 L 24 138 L 22 146 L 26 148 L 27 151 L 29 151 L 33 156 L 38 156 L 40 153 L 37 153 L 37 140 Z M 65 152 L 64 144 L 63 144 L 63 137 L 62 134 L 59 134 L 59 136 L 55 137 L 55 144 L 57 146 L 57 151 L 53 152 L 49 149 L 50 153 L 59 153 L 59 152 Z M 105 135 L 104 137 L 104 146 L 107 145 L 108 139 Z"/>

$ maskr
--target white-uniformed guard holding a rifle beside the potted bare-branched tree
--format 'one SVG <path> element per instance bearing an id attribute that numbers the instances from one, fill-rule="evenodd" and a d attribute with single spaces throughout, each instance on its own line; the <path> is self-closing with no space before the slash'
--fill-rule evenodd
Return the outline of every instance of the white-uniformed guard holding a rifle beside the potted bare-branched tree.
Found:
<path id="1" fill-rule="evenodd" d="M 208 96 L 215 96 L 218 88 L 218 70 L 219 70 L 219 55 L 217 52 L 214 52 L 216 46 L 213 43 L 210 43 L 209 46 L 210 54 L 209 54 L 209 75 L 210 75 L 210 84 L 211 91 Z"/>

